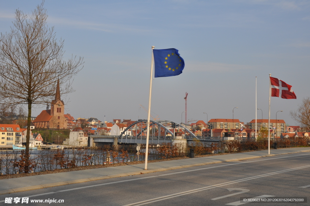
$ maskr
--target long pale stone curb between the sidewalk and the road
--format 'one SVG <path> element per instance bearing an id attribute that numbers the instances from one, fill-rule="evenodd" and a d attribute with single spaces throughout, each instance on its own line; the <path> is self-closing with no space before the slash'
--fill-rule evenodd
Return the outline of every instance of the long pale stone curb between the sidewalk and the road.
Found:
<path id="1" fill-rule="evenodd" d="M 49 183 L 49 184 L 44 184 L 44 185 L 34 185 L 34 186 L 20 187 L 20 188 L 9 189 L 9 190 L 1 190 L 0 195 L 6 195 L 6 194 L 15 193 L 15 192 L 23 192 L 23 191 L 29 191 L 29 190 L 38 190 L 38 189 L 43 189 L 43 188 L 48 188 L 48 187 L 55 187 L 55 186 L 70 185 L 70 184 L 76 184 L 76 183 L 82 183 L 82 182 L 104 180 L 104 179 L 110 179 L 110 178 L 114 178 L 114 177 L 125 177 L 125 176 L 130 176 L 130 175 L 148 174 L 148 173 L 152 173 L 152 172 L 162 172 L 162 171 L 173 170 L 173 169 L 189 168 L 189 167 L 202 166 L 202 165 L 215 164 L 215 163 L 232 162 L 232 161 L 239 161 L 239 160 L 244 160 L 244 159 L 255 159 L 255 158 L 270 157 L 270 156 L 277 156 L 277 155 L 287 155 L 287 154 L 294 154 L 294 153 L 299 153 L 299 152 L 309 152 L 309 151 L 310 150 L 302 150 L 302 151 L 296 151 L 296 152 L 286 152 L 286 153 L 271 154 L 271 155 L 261 155 L 261 156 L 251 156 L 251 157 L 243 157 L 243 158 L 235 158 L 235 159 L 226 159 L 226 160 L 218 160 L 218 161 L 211 161 L 211 162 L 203 162 L 203 163 L 173 166 L 173 167 L 168 167 L 168 168 L 158 168 L 158 169 L 151 169 L 151 170 L 141 170 L 138 172 L 128 172 L 128 173 L 115 174 L 115 175 L 91 177 L 91 178 L 85 178 L 85 179 L 79 179 L 79 180 L 55 182 L 55 183 Z"/>

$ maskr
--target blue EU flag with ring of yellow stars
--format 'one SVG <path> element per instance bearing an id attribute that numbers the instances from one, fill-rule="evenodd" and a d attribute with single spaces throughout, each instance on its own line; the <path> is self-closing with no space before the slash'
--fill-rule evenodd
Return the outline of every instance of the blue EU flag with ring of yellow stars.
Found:
<path id="1" fill-rule="evenodd" d="M 174 48 L 153 49 L 155 77 L 170 77 L 182 73 L 184 60 L 178 52 Z"/>

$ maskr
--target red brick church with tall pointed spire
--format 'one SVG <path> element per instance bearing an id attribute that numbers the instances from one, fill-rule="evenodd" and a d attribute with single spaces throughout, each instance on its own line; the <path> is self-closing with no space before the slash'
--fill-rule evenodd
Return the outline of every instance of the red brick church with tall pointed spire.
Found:
<path id="1" fill-rule="evenodd" d="M 67 120 L 64 117 L 64 101 L 60 99 L 59 80 L 57 81 L 57 88 L 55 99 L 51 102 L 51 109 L 43 110 L 36 119 L 33 120 L 36 128 L 55 128 L 67 129 Z"/>

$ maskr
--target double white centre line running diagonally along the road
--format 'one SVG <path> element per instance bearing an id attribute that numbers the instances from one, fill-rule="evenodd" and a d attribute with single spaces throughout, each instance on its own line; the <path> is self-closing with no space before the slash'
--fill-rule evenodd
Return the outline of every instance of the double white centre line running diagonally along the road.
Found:
<path id="1" fill-rule="evenodd" d="M 283 172 L 290 172 L 290 171 L 294 171 L 294 170 L 297 170 L 297 169 L 303 169 L 303 168 L 309 168 L 309 167 L 310 167 L 310 165 L 305 165 L 305 166 L 302 166 L 302 167 L 291 168 L 291 169 L 281 170 L 281 171 L 277 171 L 277 172 L 271 172 L 271 173 L 257 175 L 257 176 L 253 176 L 253 177 L 247 177 L 247 178 L 243 178 L 243 179 L 239 179 L 239 180 L 235 180 L 235 181 L 229 181 L 229 182 L 224 182 L 224 183 L 221 183 L 221 184 L 201 187 L 201 188 L 198 188 L 198 189 L 188 190 L 188 191 L 179 192 L 179 193 L 175 193 L 175 194 L 171 194 L 171 195 L 165 195 L 165 196 L 162 196 L 162 197 L 148 199 L 148 200 L 144 200 L 144 201 L 140 201 L 140 202 L 136 202 L 136 203 L 132 203 L 132 204 L 126 204 L 126 205 L 123 205 L 123 206 L 130 206 L 130 205 L 139 206 L 139 205 L 149 204 L 149 203 L 153 203 L 153 202 L 157 202 L 157 201 L 162 201 L 162 200 L 165 200 L 165 199 L 170 199 L 170 198 L 174 198 L 174 197 L 178 197 L 178 196 L 182 196 L 182 195 L 188 195 L 188 194 L 191 194 L 191 193 L 194 193 L 194 192 L 200 192 L 200 191 L 203 191 L 203 190 L 209 190 L 209 189 L 217 188 L 217 187 L 220 187 L 220 186 L 231 185 L 231 184 L 235 184 L 235 183 L 238 183 L 238 182 L 253 180 L 253 179 L 256 179 L 256 178 L 267 177 L 267 176 L 270 176 L 270 175 L 280 174 L 280 173 L 283 173 Z"/>

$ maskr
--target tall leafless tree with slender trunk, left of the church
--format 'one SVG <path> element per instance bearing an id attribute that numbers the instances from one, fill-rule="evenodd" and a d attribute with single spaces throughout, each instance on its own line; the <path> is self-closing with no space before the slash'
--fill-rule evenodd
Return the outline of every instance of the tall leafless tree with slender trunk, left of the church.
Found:
<path id="1" fill-rule="evenodd" d="M 0 37 L 0 104 L 3 107 L 28 106 L 24 172 L 29 172 L 31 109 L 46 105 L 55 95 L 59 79 L 61 94 L 73 92 L 70 79 L 82 69 L 81 57 L 63 61 L 63 43 L 47 26 L 44 2 L 31 14 L 15 11 L 11 32 Z"/>

